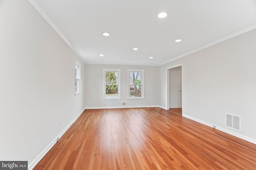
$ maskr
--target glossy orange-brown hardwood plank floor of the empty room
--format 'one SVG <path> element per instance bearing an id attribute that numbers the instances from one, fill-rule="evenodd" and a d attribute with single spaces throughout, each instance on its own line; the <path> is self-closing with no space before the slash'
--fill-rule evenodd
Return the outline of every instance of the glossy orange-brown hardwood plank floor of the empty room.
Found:
<path id="1" fill-rule="evenodd" d="M 256 170 L 256 145 L 171 110 L 88 109 L 34 170 Z"/>

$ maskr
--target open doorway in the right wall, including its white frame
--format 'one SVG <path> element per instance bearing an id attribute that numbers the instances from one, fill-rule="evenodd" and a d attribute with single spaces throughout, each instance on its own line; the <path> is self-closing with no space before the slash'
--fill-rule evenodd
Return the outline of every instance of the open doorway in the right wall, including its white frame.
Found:
<path id="1" fill-rule="evenodd" d="M 182 110 L 182 64 L 167 68 L 167 108 Z"/>

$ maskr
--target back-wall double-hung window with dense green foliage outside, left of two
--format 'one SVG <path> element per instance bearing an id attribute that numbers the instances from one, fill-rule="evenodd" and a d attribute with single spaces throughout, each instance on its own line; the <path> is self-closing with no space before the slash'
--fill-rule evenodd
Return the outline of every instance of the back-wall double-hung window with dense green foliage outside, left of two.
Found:
<path id="1" fill-rule="evenodd" d="M 120 69 L 103 69 L 103 99 L 120 99 Z"/>

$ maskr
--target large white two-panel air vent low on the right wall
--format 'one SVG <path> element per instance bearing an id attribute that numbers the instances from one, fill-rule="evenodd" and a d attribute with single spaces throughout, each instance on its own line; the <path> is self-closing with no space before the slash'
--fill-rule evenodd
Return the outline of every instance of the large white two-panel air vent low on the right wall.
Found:
<path id="1" fill-rule="evenodd" d="M 226 113 L 226 127 L 241 131 L 241 116 Z"/>

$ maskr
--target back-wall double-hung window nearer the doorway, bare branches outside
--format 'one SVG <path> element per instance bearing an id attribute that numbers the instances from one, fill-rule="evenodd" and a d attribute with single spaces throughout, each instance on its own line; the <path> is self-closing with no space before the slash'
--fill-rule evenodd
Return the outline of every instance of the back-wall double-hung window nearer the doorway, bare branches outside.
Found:
<path id="1" fill-rule="evenodd" d="M 144 98 L 144 70 L 128 70 L 128 98 Z"/>

